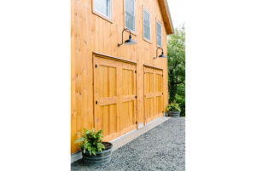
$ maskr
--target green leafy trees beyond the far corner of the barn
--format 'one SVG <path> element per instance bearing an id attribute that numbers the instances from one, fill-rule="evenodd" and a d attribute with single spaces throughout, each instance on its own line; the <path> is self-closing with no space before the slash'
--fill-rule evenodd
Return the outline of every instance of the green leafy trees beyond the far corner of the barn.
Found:
<path id="1" fill-rule="evenodd" d="M 169 104 L 174 100 L 181 107 L 185 116 L 185 28 L 175 29 L 175 34 L 168 37 L 168 88 Z"/>

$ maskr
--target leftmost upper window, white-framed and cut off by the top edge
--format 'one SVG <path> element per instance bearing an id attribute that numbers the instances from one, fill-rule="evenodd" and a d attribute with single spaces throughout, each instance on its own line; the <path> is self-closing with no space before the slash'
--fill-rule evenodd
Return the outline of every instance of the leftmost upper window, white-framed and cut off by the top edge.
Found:
<path id="1" fill-rule="evenodd" d="M 111 19 L 111 0 L 93 0 L 93 10 Z"/>

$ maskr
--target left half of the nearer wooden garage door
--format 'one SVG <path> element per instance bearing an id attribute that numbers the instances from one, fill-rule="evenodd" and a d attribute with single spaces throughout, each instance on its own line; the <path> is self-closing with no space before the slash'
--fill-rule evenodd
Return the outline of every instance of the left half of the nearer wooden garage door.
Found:
<path id="1" fill-rule="evenodd" d="M 118 133 L 117 120 L 117 67 L 95 60 L 95 128 L 102 129 L 104 140 Z M 116 135 L 115 135 L 116 136 Z"/>

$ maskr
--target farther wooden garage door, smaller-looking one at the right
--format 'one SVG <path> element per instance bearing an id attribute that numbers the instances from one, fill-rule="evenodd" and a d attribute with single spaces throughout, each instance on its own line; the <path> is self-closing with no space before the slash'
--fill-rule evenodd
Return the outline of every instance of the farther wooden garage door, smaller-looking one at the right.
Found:
<path id="1" fill-rule="evenodd" d="M 163 107 L 163 71 L 144 66 L 145 123 L 163 116 Z"/>

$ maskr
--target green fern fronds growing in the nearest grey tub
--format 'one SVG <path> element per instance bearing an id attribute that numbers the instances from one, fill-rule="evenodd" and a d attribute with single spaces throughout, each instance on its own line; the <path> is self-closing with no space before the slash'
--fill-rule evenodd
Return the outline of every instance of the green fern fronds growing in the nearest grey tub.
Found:
<path id="1" fill-rule="evenodd" d="M 75 141 L 75 143 L 79 143 L 79 148 L 85 153 L 85 151 L 89 151 L 91 154 L 96 155 L 96 152 L 100 152 L 105 149 L 105 146 L 102 144 L 102 129 L 98 132 L 95 132 L 95 129 L 87 130 L 84 128 L 84 132 L 77 133 L 81 135 L 81 138 Z"/>

